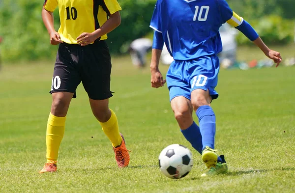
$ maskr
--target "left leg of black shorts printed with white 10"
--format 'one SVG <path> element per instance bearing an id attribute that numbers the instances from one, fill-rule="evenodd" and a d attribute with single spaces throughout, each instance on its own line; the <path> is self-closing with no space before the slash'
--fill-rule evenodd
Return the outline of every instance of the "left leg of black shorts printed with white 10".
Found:
<path id="1" fill-rule="evenodd" d="M 70 46 L 70 45 L 69 45 Z M 77 86 L 81 82 L 79 68 L 73 62 L 75 55 L 72 52 L 75 48 L 70 48 L 66 44 L 60 44 L 54 66 L 52 85 L 50 93 L 70 92 L 75 93 Z"/>

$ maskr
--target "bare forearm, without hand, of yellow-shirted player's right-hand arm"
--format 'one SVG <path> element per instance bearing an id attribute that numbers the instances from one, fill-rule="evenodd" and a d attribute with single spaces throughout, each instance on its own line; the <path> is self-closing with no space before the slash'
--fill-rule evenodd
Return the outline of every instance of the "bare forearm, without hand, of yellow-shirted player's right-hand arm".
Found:
<path id="1" fill-rule="evenodd" d="M 93 33 L 96 38 L 99 38 L 117 28 L 121 24 L 121 16 L 117 11 L 112 14 L 110 18 L 98 29 L 96 29 Z"/>

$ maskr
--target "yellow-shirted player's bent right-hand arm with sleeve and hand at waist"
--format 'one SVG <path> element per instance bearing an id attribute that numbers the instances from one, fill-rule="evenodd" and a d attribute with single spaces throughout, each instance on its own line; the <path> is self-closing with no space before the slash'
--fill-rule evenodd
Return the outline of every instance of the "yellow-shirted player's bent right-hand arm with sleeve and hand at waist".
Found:
<path id="1" fill-rule="evenodd" d="M 107 13 L 109 19 L 98 29 L 92 33 L 82 33 L 77 37 L 77 42 L 81 46 L 86 46 L 94 42 L 97 38 L 105 35 L 121 24 L 121 16 L 119 11 L 122 9 L 117 0 L 101 0 L 100 5 Z"/>

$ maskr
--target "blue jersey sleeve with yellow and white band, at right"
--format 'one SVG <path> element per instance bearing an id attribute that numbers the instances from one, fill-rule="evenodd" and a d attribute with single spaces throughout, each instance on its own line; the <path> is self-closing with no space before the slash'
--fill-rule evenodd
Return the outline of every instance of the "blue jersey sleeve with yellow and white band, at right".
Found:
<path id="1" fill-rule="evenodd" d="M 243 23 L 243 18 L 238 16 L 226 2 L 226 0 L 218 0 L 219 11 L 221 14 L 222 23 L 228 23 L 233 27 L 238 27 Z"/>

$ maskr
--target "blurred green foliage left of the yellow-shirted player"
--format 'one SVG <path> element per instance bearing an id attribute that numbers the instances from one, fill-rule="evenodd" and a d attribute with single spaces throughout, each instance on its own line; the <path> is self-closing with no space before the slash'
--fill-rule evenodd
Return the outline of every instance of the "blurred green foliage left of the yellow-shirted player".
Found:
<path id="1" fill-rule="evenodd" d="M 0 35 L 3 58 L 33 60 L 51 57 L 56 49 L 42 23 L 42 1 L 3 0 L 0 4 Z M 57 18 L 57 17 L 56 17 Z M 59 23 L 57 23 L 58 28 Z"/>

